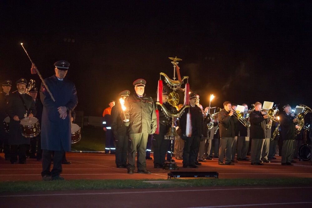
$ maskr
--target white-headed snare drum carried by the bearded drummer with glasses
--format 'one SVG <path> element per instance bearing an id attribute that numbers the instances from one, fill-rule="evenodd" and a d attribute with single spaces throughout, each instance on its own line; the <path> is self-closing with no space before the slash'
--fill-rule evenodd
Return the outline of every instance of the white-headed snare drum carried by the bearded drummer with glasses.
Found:
<path id="1" fill-rule="evenodd" d="M 23 118 L 20 125 L 22 129 L 22 135 L 26 138 L 38 136 L 40 133 L 39 122 L 35 117 Z"/>

